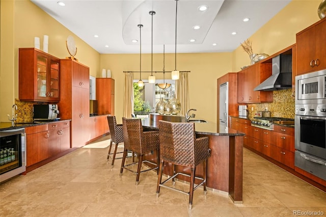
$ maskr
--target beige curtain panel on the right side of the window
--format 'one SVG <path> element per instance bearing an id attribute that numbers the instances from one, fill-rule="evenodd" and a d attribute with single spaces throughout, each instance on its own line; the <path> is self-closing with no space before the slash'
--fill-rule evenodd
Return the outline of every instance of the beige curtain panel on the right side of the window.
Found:
<path id="1" fill-rule="evenodd" d="M 175 84 L 176 98 L 181 103 L 180 115 L 185 115 L 189 108 L 188 73 L 180 72 L 179 75 L 179 79 L 176 80 Z"/>

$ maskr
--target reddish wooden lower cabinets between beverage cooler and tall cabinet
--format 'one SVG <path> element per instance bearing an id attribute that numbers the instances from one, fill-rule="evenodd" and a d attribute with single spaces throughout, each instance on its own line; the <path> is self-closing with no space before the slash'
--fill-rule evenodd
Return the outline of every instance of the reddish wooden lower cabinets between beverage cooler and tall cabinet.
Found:
<path id="1" fill-rule="evenodd" d="M 27 167 L 70 149 L 70 121 L 26 127 L 25 132 Z"/>

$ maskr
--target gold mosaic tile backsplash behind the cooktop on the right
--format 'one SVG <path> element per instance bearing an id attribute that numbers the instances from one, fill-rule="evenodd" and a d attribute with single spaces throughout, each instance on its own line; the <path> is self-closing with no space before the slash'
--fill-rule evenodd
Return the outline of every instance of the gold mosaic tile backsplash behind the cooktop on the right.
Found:
<path id="1" fill-rule="evenodd" d="M 255 116 L 256 111 L 270 111 L 270 117 L 292 118 L 294 119 L 295 99 L 292 90 L 273 91 L 273 102 L 248 104 L 249 118 Z"/>

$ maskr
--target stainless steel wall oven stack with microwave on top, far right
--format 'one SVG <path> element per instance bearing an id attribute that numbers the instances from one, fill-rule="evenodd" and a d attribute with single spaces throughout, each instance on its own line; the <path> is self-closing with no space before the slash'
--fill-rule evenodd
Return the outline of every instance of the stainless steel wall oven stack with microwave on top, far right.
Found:
<path id="1" fill-rule="evenodd" d="M 295 166 L 326 180 L 326 70 L 295 77 Z"/>

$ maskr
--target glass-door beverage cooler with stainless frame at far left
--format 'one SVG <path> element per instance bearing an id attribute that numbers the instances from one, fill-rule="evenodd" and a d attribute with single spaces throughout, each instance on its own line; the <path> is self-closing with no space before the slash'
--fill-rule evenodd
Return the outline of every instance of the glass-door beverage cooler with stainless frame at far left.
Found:
<path id="1" fill-rule="evenodd" d="M 0 182 L 26 171 L 25 128 L 0 131 Z"/>

